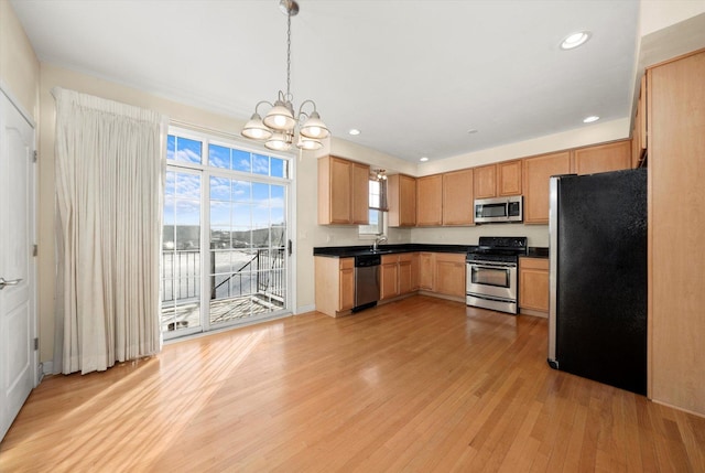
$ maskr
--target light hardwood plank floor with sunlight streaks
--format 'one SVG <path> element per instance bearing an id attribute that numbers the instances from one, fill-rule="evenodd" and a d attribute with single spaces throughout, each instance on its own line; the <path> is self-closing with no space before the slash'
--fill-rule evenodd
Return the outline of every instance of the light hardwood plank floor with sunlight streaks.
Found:
<path id="1" fill-rule="evenodd" d="M 549 368 L 546 322 L 413 297 L 45 379 L 0 471 L 705 471 L 705 419 Z"/>

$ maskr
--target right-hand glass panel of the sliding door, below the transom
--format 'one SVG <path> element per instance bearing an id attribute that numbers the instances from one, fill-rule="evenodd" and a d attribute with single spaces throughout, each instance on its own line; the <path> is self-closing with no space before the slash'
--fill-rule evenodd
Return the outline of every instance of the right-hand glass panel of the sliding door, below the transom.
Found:
<path id="1" fill-rule="evenodd" d="M 270 170 L 261 159 L 252 168 Z M 209 184 L 209 323 L 285 310 L 285 186 L 225 175 L 212 175 Z"/>

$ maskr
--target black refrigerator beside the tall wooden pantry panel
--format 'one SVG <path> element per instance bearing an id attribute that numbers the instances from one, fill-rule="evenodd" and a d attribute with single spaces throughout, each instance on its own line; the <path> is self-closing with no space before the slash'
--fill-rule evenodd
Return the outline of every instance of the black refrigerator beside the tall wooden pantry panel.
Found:
<path id="1" fill-rule="evenodd" d="M 549 365 L 647 394 L 647 170 L 550 180 Z"/>

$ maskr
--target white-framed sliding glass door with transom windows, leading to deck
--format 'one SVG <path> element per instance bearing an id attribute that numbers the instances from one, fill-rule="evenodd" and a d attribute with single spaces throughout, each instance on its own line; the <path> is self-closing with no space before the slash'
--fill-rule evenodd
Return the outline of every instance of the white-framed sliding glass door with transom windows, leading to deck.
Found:
<path id="1" fill-rule="evenodd" d="M 174 131 L 162 257 L 165 338 L 291 311 L 291 161 Z"/>

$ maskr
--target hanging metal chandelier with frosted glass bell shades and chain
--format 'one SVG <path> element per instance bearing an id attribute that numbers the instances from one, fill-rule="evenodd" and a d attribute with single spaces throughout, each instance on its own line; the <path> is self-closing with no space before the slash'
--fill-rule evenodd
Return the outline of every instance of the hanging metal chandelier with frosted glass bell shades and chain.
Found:
<path id="1" fill-rule="evenodd" d="M 294 115 L 291 88 L 291 18 L 299 13 L 299 3 L 294 0 L 280 0 L 280 9 L 286 14 L 286 94 L 279 90 L 279 97 L 271 104 L 261 100 L 254 106 L 254 114 L 242 128 L 242 136 L 264 141 L 271 150 L 282 151 L 291 148 L 294 139 L 296 147 L 304 150 L 317 150 L 323 147 L 321 140 L 330 136 L 328 128 L 321 120 L 313 100 L 304 100 Z M 259 114 L 261 105 L 267 104 L 270 110 L 264 118 Z M 313 110 L 304 111 L 304 106 L 311 105 Z M 296 127 L 299 133 L 296 136 Z"/>

